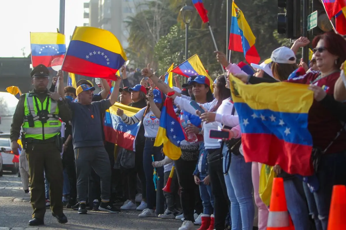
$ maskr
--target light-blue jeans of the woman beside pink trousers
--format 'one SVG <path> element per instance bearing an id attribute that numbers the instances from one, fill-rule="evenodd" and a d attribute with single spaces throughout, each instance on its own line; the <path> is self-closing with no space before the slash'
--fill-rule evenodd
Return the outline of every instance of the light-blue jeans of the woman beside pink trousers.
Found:
<path id="1" fill-rule="evenodd" d="M 228 148 L 224 146 L 224 172 L 225 163 L 229 159 Z M 231 154 L 231 164 L 225 182 L 229 200 L 231 201 L 232 230 L 252 230 L 254 224 L 255 207 L 252 199 L 252 162 L 245 163 L 242 155 Z"/>

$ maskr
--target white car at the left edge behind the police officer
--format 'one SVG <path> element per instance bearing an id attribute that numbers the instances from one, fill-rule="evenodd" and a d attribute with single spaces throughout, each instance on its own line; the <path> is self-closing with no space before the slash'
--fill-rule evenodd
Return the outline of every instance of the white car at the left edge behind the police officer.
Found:
<path id="1" fill-rule="evenodd" d="M 12 162 L 14 155 L 9 138 L 0 137 L 0 149 L 2 155 L 2 169 L 5 171 L 11 171 L 13 174 L 17 173 L 19 164 Z M 6 150 L 6 152 L 3 152 L 2 150 Z"/>

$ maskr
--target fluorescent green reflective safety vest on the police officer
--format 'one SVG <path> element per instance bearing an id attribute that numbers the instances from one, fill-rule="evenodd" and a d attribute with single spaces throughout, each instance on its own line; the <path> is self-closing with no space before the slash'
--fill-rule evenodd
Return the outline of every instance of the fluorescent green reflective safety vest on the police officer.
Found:
<path id="1" fill-rule="evenodd" d="M 60 133 L 61 122 L 58 118 L 59 108 L 58 103 L 48 96 L 46 97 L 43 104 L 39 99 L 35 100 L 35 96 L 29 96 L 30 93 L 25 94 L 24 101 L 24 124 L 22 126 L 23 132 L 25 133 L 25 138 L 34 138 L 38 140 L 45 140 L 52 138 Z M 37 106 L 36 106 L 37 101 Z M 48 108 L 47 108 L 48 102 Z M 39 120 L 38 111 L 48 110 L 48 119 L 46 123 L 42 123 Z M 29 122 L 27 116 L 30 114 L 34 117 L 34 127 L 29 127 Z"/>

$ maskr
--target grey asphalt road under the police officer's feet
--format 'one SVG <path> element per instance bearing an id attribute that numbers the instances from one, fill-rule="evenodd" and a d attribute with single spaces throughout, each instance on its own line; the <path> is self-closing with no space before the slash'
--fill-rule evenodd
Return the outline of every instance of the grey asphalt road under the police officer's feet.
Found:
<path id="1" fill-rule="evenodd" d="M 88 210 L 87 215 L 79 215 L 65 208 L 68 223 L 58 223 L 47 209 L 45 226 L 37 228 L 28 226 L 33 211 L 29 200 L 30 195 L 22 190 L 20 178 L 5 172 L 0 177 L 0 230 L 177 230 L 182 224 L 180 220 L 139 218 L 139 211 L 106 213 Z"/>

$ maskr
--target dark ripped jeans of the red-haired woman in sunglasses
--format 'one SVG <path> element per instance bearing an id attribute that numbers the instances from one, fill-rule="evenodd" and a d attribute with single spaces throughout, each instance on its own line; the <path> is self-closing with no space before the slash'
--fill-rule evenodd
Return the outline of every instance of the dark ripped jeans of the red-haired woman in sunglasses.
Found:
<path id="1" fill-rule="evenodd" d="M 327 230 L 328 216 L 333 186 L 346 185 L 346 151 L 324 154 L 321 157 L 318 172 L 319 190 L 311 193 L 304 183 L 304 192 L 308 200 L 309 211 L 317 230 Z M 312 196 L 311 196 L 312 195 Z"/>

